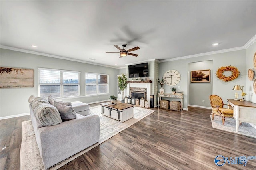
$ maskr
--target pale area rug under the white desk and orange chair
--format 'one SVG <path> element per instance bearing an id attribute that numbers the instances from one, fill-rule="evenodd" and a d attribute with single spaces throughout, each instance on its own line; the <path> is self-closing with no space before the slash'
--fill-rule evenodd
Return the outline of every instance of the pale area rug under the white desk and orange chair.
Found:
<path id="1" fill-rule="evenodd" d="M 236 121 L 232 118 L 225 119 L 225 125 L 222 125 L 222 117 L 214 116 L 212 120 L 212 115 L 210 115 L 212 121 L 212 127 L 220 130 L 233 132 L 237 134 L 242 134 L 245 136 L 250 136 L 256 138 L 256 129 L 252 127 L 249 123 L 242 122 L 242 126 L 239 125 L 238 132 L 236 132 Z"/>

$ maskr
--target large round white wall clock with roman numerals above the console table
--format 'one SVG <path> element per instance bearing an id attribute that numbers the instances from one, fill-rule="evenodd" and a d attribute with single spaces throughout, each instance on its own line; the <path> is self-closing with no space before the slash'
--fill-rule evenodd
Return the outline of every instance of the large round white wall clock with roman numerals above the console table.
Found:
<path id="1" fill-rule="evenodd" d="M 174 86 L 180 82 L 180 73 L 177 70 L 168 70 L 164 73 L 163 78 L 166 85 Z"/>

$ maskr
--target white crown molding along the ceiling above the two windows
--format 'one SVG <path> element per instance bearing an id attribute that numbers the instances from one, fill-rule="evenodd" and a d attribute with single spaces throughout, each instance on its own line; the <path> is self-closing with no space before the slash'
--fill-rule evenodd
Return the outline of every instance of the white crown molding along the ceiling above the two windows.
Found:
<path id="1" fill-rule="evenodd" d="M 13 51 L 19 51 L 19 52 L 23 52 L 23 53 L 30 53 L 30 54 L 42 55 L 42 56 L 46 56 L 46 57 L 52 57 L 52 58 L 58 58 L 58 59 L 65 59 L 65 60 L 69 60 L 69 61 L 76 61 L 76 62 L 80 62 L 80 63 L 86 63 L 86 64 L 92 64 L 92 65 L 99 65 L 99 66 L 102 66 L 102 67 L 110 67 L 110 68 L 118 69 L 118 67 L 113 67 L 113 66 L 110 66 L 110 65 L 98 64 L 98 63 L 91 63 L 91 62 L 83 61 L 83 60 L 79 60 L 79 59 L 71 59 L 71 58 L 67 58 L 67 57 L 61 57 L 61 56 L 58 56 L 58 55 L 51 55 L 51 54 L 46 54 L 46 53 L 39 53 L 39 52 L 35 52 L 35 51 L 29 51 L 29 50 L 26 50 L 26 49 L 8 47 L 8 46 L 5 46 L 5 45 L 0 45 L 0 48 L 2 48 L 2 49 L 9 49 L 9 50 L 13 50 Z"/>

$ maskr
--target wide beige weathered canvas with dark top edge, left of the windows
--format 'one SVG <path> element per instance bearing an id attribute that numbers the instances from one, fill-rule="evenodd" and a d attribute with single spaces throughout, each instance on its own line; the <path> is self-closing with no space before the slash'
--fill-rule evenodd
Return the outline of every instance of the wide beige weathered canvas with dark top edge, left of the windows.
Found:
<path id="1" fill-rule="evenodd" d="M 34 87 L 34 70 L 0 67 L 0 88 Z"/>

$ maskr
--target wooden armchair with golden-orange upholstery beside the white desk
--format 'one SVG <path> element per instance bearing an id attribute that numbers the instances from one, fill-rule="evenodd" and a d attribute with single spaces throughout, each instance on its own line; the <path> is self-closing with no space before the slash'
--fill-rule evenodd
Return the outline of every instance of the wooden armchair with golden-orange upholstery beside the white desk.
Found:
<path id="1" fill-rule="evenodd" d="M 222 117 L 222 125 L 225 123 L 226 117 L 233 117 L 233 110 L 224 108 L 224 104 L 222 99 L 217 95 L 210 95 L 210 103 L 212 106 L 212 120 L 214 119 L 214 115 L 218 115 Z M 227 105 L 230 106 L 230 105 Z M 231 106 L 230 106 L 231 107 Z"/>

